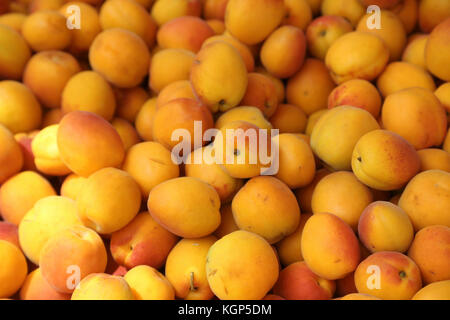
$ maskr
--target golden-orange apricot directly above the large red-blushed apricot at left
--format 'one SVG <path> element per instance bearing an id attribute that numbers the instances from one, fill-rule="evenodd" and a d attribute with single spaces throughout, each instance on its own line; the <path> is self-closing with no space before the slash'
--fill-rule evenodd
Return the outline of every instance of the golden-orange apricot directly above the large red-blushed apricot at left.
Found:
<path id="1" fill-rule="evenodd" d="M 61 109 L 64 113 L 88 111 L 110 121 L 116 100 L 105 78 L 95 71 L 83 71 L 71 77 L 64 87 Z"/>

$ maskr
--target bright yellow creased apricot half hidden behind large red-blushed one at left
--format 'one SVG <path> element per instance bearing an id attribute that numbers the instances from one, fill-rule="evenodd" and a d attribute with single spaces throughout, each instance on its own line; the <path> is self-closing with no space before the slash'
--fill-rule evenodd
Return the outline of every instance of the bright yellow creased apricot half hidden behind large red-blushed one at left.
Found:
<path id="1" fill-rule="evenodd" d="M 58 128 L 59 125 L 54 124 L 39 131 L 31 143 L 31 150 L 36 168 L 40 172 L 64 176 L 71 173 L 71 170 L 61 160 L 57 144 Z"/>

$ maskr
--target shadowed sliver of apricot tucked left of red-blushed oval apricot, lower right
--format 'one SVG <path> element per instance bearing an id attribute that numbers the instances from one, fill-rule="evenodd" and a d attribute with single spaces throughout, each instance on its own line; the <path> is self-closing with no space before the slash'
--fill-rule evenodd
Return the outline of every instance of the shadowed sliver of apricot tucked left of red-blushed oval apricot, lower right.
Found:
<path id="1" fill-rule="evenodd" d="M 303 261 L 301 249 L 302 233 L 306 221 L 308 221 L 311 216 L 311 213 L 302 213 L 297 230 L 289 236 L 286 236 L 283 240 L 277 242 L 276 248 L 282 265 L 288 266 L 294 262 Z"/>

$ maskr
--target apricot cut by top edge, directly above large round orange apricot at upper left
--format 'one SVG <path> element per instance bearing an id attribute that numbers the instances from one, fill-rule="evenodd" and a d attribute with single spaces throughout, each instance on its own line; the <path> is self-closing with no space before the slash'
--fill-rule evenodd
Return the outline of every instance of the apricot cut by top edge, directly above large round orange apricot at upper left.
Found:
<path id="1" fill-rule="evenodd" d="M 107 1 L 100 9 L 99 18 L 103 30 L 122 28 L 140 36 L 149 47 L 155 43 L 158 26 L 147 10 L 136 1 Z"/>

